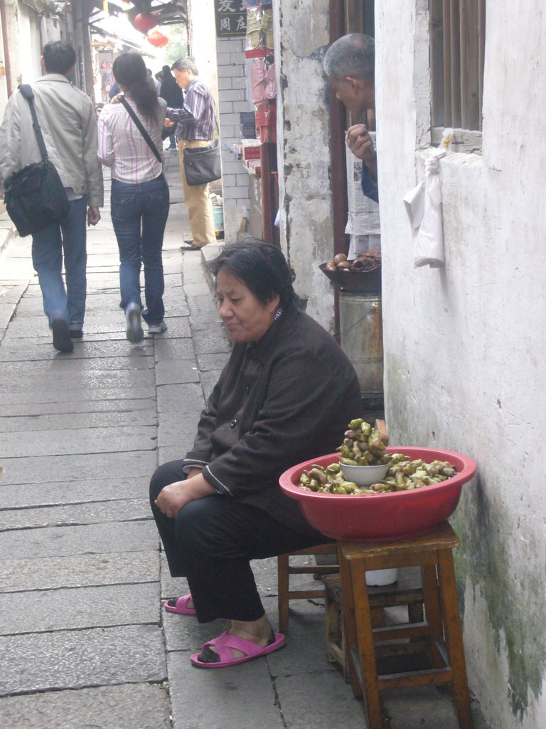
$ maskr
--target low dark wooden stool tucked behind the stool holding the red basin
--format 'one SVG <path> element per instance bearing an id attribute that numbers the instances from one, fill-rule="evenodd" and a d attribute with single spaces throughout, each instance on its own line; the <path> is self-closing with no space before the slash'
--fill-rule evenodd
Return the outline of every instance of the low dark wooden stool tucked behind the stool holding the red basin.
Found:
<path id="1" fill-rule="evenodd" d="M 349 682 L 349 657 L 342 617 L 341 575 L 327 574 L 323 577 L 323 582 L 326 655 L 330 663 L 339 663 L 344 679 Z M 424 594 L 419 567 L 403 567 L 398 572 L 397 581 L 392 585 L 367 585 L 367 587 L 373 628 L 384 627 L 384 610 L 387 607 L 407 607 L 408 622 L 422 623 Z M 403 652 L 413 653 L 415 647 L 408 644 Z"/>

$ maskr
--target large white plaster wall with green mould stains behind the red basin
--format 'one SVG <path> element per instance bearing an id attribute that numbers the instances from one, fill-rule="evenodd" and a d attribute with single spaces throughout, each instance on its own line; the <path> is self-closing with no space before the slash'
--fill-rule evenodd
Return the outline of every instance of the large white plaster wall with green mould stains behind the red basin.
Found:
<path id="1" fill-rule="evenodd" d="M 546 11 L 487 3 L 483 157 L 441 163 L 446 267 L 413 268 L 402 198 L 430 126 L 427 0 L 376 2 L 387 424 L 478 461 L 454 526 L 470 687 L 495 729 L 546 725 Z"/>

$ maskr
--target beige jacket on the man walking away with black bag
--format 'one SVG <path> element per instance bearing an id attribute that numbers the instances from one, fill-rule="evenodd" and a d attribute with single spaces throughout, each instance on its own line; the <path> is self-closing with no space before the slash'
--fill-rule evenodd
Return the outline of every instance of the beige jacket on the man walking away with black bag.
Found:
<path id="1" fill-rule="evenodd" d="M 60 74 L 32 84 L 36 116 L 47 154 L 65 187 L 87 195 L 90 208 L 103 206 L 103 172 L 97 157 L 97 117 L 91 99 Z M 6 179 L 41 155 L 28 101 L 17 90 L 0 125 L 0 176 Z"/>

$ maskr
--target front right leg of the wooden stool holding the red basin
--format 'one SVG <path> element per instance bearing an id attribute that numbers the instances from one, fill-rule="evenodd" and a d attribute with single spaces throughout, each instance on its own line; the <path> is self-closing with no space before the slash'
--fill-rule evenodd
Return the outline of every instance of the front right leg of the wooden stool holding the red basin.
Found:
<path id="1" fill-rule="evenodd" d="M 459 720 L 459 729 L 472 729 L 467 668 L 464 661 L 461 620 L 459 617 L 459 603 L 457 601 L 453 553 L 451 549 L 439 551 L 438 572 L 440 576 L 440 598 L 442 600 L 443 615 L 445 618 L 446 648 L 452 674 L 451 686 L 453 687 L 453 702 L 457 719 Z"/>

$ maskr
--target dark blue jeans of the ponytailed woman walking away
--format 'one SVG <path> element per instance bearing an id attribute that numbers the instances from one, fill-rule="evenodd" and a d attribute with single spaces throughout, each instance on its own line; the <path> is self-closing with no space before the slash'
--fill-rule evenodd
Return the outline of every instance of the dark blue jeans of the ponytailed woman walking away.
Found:
<path id="1" fill-rule="evenodd" d="M 141 300 L 141 265 L 144 264 L 142 312 L 147 324 L 159 324 L 163 305 L 163 233 L 169 215 L 169 187 L 163 175 L 149 182 L 130 184 L 112 180 L 111 215 L 119 248 L 119 288 L 126 309 Z"/>

